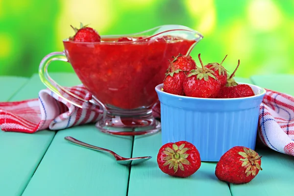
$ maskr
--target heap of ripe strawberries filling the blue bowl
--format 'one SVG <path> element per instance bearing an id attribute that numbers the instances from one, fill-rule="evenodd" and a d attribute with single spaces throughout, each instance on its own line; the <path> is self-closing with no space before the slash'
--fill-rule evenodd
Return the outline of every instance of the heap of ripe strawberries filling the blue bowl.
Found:
<path id="1" fill-rule="evenodd" d="M 198 54 L 201 67 L 191 56 L 179 54 L 173 57 L 163 82 L 163 91 L 174 95 L 195 98 L 244 98 L 254 96 L 252 88 L 247 84 L 237 84 L 234 75 L 229 75 L 221 63 L 203 65 Z"/>

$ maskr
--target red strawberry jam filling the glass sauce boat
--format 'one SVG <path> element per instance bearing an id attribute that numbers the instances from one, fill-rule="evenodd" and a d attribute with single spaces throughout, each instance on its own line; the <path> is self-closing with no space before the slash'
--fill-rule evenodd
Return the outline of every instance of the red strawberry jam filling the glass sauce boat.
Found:
<path id="1" fill-rule="evenodd" d="M 102 38 L 93 44 L 64 41 L 64 47 L 81 82 L 106 106 L 149 108 L 157 101 L 154 88 L 163 82 L 168 60 L 187 53 L 195 41 L 171 36 L 140 40 L 114 42 L 118 38 Z"/>

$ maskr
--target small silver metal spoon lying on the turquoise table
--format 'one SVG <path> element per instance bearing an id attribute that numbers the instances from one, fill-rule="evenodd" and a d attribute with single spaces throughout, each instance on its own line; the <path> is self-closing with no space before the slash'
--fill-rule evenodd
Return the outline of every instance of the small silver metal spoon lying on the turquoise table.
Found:
<path id="1" fill-rule="evenodd" d="M 108 153 L 110 153 L 111 155 L 114 156 L 117 163 L 122 164 L 122 165 L 136 165 L 136 164 L 139 164 L 139 163 L 143 163 L 143 162 L 149 160 L 150 158 L 152 158 L 151 156 L 125 158 L 125 157 L 122 157 L 122 156 L 118 155 L 117 153 L 115 153 L 112 150 L 102 148 L 102 147 L 96 147 L 96 146 L 81 142 L 81 141 L 79 141 L 79 140 L 77 140 L 77 139 L 75 139 L 73 137 L 70 137 L 70 136 L 67 136 L 64 139 L 71 142 L 71 143 L 73 143 L 73 144 L 75 144 L 75 145 L 78 145 L 80 147 L 86 147 L 86 148 L 89 148 L 89 149 L 92 149 L 92 150 L 108 152 Z"/>

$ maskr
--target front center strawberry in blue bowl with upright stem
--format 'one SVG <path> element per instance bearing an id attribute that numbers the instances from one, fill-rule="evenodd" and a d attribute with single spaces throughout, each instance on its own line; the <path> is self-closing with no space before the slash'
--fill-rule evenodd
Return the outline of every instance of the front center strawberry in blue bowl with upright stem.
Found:
<path id="1" fill-rule="evenodd" d="M 221 89 L 221 83 L 214 75 L 214 72 L 203 66 L 198 54 L 201 68 L 192 70 L 186 77 L 183 87 L 184 93 L 188 97 L 195 98 L 215 98 Z"/>

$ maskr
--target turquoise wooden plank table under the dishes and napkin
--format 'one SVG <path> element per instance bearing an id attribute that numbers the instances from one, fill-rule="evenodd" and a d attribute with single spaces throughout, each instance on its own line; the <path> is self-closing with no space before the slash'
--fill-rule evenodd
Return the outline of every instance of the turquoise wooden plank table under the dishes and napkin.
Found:
<path id="1" fill-rule="evenodd" d="M 79 83 L 72 73 L 51 76 L 65 86 Z M 294 96 L 294 75 L 255 75 L 237 81 Z M 0 76 L 0 101 L 37 98 L 44 88 L 37 74 L 31 78 Z M 70 144 L 65 136 L 125 157 L 153 158 L 123 166 L 108 154 Z M 161 133 L 117 137 L 99 132 L 93 124 L 34 134 L 0 131 L 0 196 L 294 196 L 294 157 L 259 147 L 263 171 L 247 184 L 233 185 L 217 179 L 216 163 L 202 162 L 188 178 L 166 175 L 156 163 L 160 147 Z"/>

